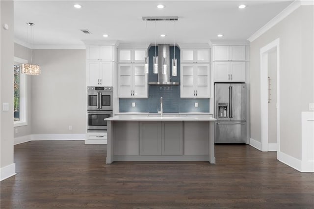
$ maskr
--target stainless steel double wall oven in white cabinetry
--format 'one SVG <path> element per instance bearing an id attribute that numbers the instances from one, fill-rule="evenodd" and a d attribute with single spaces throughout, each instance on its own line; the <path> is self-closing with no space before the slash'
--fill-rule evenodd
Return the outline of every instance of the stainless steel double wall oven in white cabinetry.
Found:
<path id="1" fill-rule="evenodd" d="M 107 132 L 112 116 L 112 86 L 87 87 L 87 132 Z"/>

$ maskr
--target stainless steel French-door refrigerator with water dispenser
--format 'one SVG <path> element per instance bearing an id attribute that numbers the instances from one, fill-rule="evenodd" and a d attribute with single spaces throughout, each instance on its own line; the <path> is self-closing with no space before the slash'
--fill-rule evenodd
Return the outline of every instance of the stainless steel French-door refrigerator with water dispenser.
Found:
<path id="1" fill-rule="evenodd" d="M 246 143 L 246 84 L 215 83 L 215 143 Z"/>

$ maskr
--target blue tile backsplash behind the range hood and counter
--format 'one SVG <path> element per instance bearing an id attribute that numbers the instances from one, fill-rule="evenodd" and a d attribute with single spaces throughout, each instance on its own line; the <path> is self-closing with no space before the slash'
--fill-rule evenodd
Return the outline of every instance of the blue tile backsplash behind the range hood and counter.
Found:
<path id="1" fill-rule="evenodd" d="M 157 47 L 158 50 L 158 47 Z M 180 69 L 180 50 L 175 47 L 176 58 L 178 59 L 178 69 Z M 158 51 L 157 51 L 158 53 Z M 153 73 L 153 56 L 155 55 L 155 47 L 149 50 L 149 81 L 157 81 L 158 75 Z M 170 47 L 170 60 L 174 56 L 173 47 Z M 171 62 L 170 62 L 171 63 Z M 170 77 L 172 66 L 170 65 Z M 170 81 L 180 82 L 180 70 L 178 76 L 171 77 Z M 182 99 L 180 98 L 180 85 L 157 86 L 149 85 L 149 98 L 147 99 L 119 99 L 120 112 L 152 112 L 157 113 L 160 110 L 160 97 L 163 98 L 163 112 L 209 112 L 209 99 Z M 194 103 L 198 103 L 198 107 Z M 132 107 L 135 103 L 135 107 Z"/>

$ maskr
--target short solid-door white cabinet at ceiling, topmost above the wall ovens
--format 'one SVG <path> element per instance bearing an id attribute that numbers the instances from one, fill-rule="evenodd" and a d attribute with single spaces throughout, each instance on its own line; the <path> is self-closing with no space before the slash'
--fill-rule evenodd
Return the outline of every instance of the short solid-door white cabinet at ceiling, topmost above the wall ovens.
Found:
<path id="1" fill-rule="evenodd" d="M 113 61 L 113 46 L 110 45 L 87 45 L 86 59 L 87 60 L 105 60 Z"/>

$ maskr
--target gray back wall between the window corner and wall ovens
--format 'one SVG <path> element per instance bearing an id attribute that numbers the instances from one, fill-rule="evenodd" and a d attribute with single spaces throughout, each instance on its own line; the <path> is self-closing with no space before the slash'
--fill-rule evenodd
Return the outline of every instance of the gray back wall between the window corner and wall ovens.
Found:
<path id="1" fill-rule="evenodd" d="M 33 63 L 31 133 L 85 133 L 85 50 L 34 50 Z"/>

